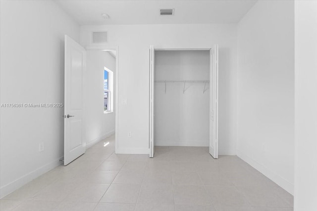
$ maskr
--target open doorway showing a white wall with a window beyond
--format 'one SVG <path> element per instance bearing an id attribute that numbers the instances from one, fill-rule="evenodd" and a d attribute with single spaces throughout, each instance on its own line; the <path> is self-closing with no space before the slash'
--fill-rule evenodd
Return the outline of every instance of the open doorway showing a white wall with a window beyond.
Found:
<path id="1" fill-rule="evenodd" d="M 87 147 L 115 134 L 116 50 L 87 49 L 85 139 Z"/>

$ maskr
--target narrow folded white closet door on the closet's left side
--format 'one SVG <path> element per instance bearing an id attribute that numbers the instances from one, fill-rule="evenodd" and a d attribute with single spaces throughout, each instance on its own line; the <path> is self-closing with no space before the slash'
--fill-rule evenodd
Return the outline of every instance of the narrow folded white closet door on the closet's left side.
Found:
<path id="1" fill-rule="evenodd" d="M 154 156 L 154 46 L 150 46 L 150 158 Z"/>

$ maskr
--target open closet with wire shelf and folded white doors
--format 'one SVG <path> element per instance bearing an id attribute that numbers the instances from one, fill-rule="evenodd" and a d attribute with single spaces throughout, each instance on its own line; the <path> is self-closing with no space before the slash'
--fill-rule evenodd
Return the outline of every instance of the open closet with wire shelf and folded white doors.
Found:
<path id="1" fill-rule="evenodd" d="M 209 146 L 217 158 L 218 46 L 150 47 L 150 157 L 154 146 Z"/>

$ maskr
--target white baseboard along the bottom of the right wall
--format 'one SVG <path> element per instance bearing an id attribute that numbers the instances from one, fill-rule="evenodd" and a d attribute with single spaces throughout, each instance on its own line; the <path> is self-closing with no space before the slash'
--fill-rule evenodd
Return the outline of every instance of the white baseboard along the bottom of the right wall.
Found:
<path id="1" fill-rule="evenodd" d="M 253 160 L 252 158 L 245 155 L 244 153 L 242 153 L 239 150 L 237 150 L 237 156 L 239 158 L 241 158 L 243 161 L 245 161 L 246 163 L 248 163 L 253 168 L 255 168 L 258 171 L 260 171 L 261 173 L 263 173 L 267 178 L 269 178 L 270 180 L 275 182 L 281 188 L 283 188 L 284 190 L 286 190 L 290 194 L 294 195 L 294 184 L 290 183 L 289 181 L 287 181 L 286 179 L 284 179 L 283 177 L 281 177 L 277 173 L 273 172 L 272 170 L 267 169 L 262 164 L 259 164 L 258 162 L 256 162 L 255 160 Z"/>

